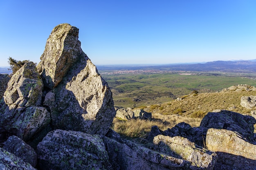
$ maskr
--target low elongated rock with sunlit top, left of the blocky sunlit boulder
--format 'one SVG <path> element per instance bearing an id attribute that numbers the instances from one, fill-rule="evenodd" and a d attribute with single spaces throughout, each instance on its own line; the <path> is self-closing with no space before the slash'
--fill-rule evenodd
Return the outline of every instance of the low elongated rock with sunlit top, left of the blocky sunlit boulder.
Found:
<path id="1" fill-rule="evenodd" d="M 217 161 L 215 153 L 201 148 L 184 137 L 158 135 L 154 137 L 153 143 L 159 152 L 188 161 L 187 168 L 191 170 L 213 170 Z"/>

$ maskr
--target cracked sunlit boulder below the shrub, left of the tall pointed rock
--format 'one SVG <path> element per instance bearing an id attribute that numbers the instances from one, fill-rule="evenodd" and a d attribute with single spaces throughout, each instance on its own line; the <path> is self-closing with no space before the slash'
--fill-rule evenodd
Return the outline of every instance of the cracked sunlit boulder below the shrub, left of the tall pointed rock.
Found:
<path id="1" fill-rule="evenodd" d="M 40 106 L 43 82 L 33 62 L 24 64 L 10 79 L 4 93 L 5 104 L 20 107 Z"/>

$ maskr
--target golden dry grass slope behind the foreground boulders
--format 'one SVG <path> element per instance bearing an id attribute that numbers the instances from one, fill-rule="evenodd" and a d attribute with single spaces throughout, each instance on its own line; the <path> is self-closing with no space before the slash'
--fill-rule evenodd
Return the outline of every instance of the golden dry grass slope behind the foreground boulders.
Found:
<path id="1" fill-rule="evenodd" d="M 152 126 L 161 130 L 172 128 L 180 122 L 186 122 L 192 127 L 200 126 L 204 115 L 216 109 L 231 110 L 237 113 L 250 115 L 249 109 L 240 106 L 242 96 L 256 95 L 256 91 L 223 92 L 223 93 L 198 93 L 183 96 L 182 100 L 173 100 L 163 104 L 143 107 L 151 112 L 153 120 L 114 119 L 112 128 L 120 135 L 126 137 L 145 138 Z"/>

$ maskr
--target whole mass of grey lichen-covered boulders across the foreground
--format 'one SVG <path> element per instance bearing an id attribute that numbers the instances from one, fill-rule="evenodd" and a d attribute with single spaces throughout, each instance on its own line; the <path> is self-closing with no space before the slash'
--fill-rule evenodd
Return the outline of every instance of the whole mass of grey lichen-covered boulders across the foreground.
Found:
<path id="1" fill-rule="evenodd" d="M 1 79 L 0 169 L 256 170 L 252 116 L 219 110 L 199 127 L 153 126 L 144 144 L 110 129 L 116 115 L 112 93 L 78 34 L 70 24 L 56 26 L 37 66 L 27 62 L 9 82 Z M 255 107 L 253 96 L 243 100 Z M 117 116 L 151 118 L 131 109 L 117 110 Z"/>

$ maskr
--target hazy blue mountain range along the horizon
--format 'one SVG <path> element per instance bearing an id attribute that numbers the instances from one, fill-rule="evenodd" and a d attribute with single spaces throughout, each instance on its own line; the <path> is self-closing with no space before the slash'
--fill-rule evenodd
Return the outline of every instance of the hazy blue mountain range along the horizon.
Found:
<path id="1" fill-rule="evenodd" d="M 1 74 L 10 74 L 8 66 L 0 67 Z M 98 65 L 99 71 L 106 70 L 162 70 L 162 71 L 220 71 L 233 73 L 256 73 L 256 59 L 194 62 L 176 64 L 113 64 Z"/>

